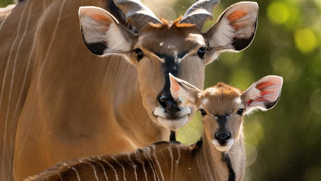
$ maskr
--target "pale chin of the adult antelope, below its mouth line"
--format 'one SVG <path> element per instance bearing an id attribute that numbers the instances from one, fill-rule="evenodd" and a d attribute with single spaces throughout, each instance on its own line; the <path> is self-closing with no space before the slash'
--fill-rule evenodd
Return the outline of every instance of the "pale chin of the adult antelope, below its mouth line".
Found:
<path id="1" fill-rule="evenodd" d="M 178 117 L 178 118 L 162 118 L 160 116 L 157 117 L 157 121 L 159 124 L 164 126 L 170 130 L 177 130 L 188 123 L 189 117 L 188 115 Z"/>

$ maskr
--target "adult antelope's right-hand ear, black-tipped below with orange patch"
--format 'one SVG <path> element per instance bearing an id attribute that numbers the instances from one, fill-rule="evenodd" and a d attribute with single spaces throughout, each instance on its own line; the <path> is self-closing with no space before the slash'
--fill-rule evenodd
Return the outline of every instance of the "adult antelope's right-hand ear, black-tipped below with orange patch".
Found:
<path id="1" fill-rule="evenodd" d="M 229 7 L 205 33 L 210 49 L 240 51 L 248 47 L 255 35 L 257 14 L 255 2 L 240 2 Z"/>

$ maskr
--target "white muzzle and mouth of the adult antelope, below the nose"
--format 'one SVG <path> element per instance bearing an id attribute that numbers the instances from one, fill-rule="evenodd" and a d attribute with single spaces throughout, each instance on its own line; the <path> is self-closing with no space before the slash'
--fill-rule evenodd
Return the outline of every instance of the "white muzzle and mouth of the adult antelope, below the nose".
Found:
<path id="1" fill-rule="evenodd" d="M 186 125 L 191 113 L 192 110 L 189 107 L 181 108 L 181 111 L 178 111 L 175 117 L 166 113 L 163 107 L 156 107 L 153 111 L 153 115 L 157 118 L 159 124 L 170 130 L 177 130 Z"/>

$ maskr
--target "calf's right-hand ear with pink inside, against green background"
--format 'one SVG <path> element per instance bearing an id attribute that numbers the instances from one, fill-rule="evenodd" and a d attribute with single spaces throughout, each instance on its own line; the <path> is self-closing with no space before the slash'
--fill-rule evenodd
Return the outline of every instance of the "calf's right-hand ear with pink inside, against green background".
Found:
<path id="1" fill-rule="evenodd" d="M 273 108 L 280 98 L 282 83 L 283 78 L 274 75 L 265 76 L 254 82 L 243 93 L 247 113 L 255 109 L 265 111 Z"/>

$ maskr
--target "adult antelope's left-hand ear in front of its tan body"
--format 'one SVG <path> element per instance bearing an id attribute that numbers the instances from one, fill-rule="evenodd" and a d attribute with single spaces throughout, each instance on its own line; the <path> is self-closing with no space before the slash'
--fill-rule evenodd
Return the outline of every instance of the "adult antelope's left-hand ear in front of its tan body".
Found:
<path id="1" fill-rule="evenodd" d="M 78 14 L 83 40 L 92 53 L 103 55 L 130 51 L 130 33 L 120 29 L 118 21 L 110 13 L 97 7 L 80 7 Z"/>

